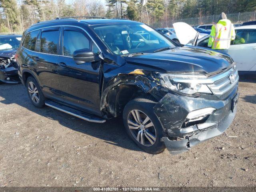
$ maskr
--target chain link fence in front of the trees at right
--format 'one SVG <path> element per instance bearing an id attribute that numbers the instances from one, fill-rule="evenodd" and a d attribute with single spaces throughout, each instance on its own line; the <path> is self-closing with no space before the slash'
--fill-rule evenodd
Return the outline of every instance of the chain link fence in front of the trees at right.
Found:
<path id="1" fill-rule="evenodd" d="M 237 13 L 237 14 L 227 14 L 229 20 L 234 24 L 241 24 L 247 21 L 256 20 L 256 11 L 248 13 Z M 152 26 L 157 27 L 172 27 L 172 24 L 176 22 L 184 22 L 191 26 L 204 25 L 204 24 L 214 24 L 218 22 L 219 15 L 213 16 L 202 16 L 198 18 L 187 18 L 187 19 L 177 19 L 177 20 L 168 20 L 154 23 Z"/>

